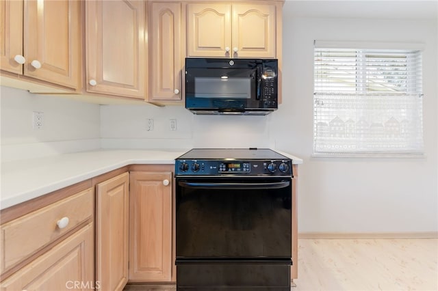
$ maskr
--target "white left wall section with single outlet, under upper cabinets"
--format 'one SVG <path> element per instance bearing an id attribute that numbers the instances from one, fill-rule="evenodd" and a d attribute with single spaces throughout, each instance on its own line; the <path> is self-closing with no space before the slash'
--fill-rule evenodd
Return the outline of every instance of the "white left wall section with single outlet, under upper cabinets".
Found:
<path id="1" fill-rule="evenodd" d="M 99 105 L 0 87 L 1 161 L 100 148 Z M 33 128 L 42 111 L 44 127 Z"/>

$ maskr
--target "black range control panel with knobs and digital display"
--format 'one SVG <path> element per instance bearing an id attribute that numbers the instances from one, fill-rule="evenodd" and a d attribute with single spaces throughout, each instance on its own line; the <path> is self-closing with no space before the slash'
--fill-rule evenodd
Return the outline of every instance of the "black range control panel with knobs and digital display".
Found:
<path id="1" fill-rule="evenodd" d="M 291 160 L 177 160 L 175 176 L 292 176 Z"/>

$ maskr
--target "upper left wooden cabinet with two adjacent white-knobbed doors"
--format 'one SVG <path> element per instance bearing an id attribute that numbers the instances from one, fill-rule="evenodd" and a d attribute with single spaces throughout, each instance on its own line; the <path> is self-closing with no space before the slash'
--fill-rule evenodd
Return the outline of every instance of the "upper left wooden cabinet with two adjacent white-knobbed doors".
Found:
<path id="1" fill-rule="evenodd" d="M 80 5 L 76 0 L 1 1 L 1 70 L 79 89 Z"/>

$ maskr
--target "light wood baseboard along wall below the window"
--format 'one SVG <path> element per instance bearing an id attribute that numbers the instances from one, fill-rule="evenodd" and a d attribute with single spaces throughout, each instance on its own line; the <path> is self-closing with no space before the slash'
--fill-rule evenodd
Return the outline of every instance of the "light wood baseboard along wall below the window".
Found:
<path id="1" fill-rule="evenodd" d="M 316 238 L 438 238 L 438 232 L 299 232 L 298 239 Z"/>

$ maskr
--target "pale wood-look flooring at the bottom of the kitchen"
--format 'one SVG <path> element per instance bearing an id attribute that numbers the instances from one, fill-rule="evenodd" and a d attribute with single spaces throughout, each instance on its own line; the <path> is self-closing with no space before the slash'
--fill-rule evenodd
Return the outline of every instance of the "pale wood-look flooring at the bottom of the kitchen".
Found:
<path id="1" fill-rule="evenodd" d="M 299 239 L 292 291 L 438 290 L 437 239 Z M 175 291 L 175 285 L 128 285 Z"/>

